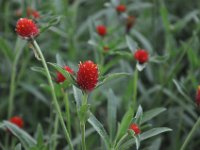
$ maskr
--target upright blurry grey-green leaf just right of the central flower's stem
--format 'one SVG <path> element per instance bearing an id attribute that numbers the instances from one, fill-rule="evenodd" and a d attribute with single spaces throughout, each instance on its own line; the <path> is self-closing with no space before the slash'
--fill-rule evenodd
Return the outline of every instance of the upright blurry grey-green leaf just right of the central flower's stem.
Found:
<path id="1" fill-rule="evenodd" d="M 113 140 L 116 133 L 117 124 L 117 97 L 111 89 L 106 92 L 108 99 L 107 111 L 108 111 L 108 126 L 110 131 L 111 139 Z"/>

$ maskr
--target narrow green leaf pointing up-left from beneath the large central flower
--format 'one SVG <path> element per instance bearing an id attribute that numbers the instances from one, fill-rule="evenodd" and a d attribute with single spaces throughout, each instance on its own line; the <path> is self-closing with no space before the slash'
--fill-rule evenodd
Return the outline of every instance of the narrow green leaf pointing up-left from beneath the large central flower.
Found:
<path id="1" fill-rule="evenodd" d="M 72 84 L 75 84 L 74 79 L 72 75 L 67 72 L 65 69 L 63 69 L 61 66 L 57 65 L 56 63 L 50 63 L 48 62 L 51 66 L 53 66 L 58 72 L 60 72 L 66 79 Z"/>

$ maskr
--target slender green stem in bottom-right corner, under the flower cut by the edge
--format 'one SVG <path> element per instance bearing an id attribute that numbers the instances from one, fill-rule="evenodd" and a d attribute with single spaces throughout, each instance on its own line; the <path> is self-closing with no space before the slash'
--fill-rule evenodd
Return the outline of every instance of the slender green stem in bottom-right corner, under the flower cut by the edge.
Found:
<path id="1" fill-rule="evenodd" d="M 195 131 L 199 128 L 200 126 L 200 117 L 198 118 L 197 122 L 194 124 L 194 126 L 192 127 L 192 130 L 190 131 L 190 133 L 188 134 L 188 136 L 186 137 L 183 145 L 181 146 L 180 150 L 184 150 L 186 149 L 186 146 L 188 145 L 189 141 L 192 139 L 193 134 L 195 133 Z"/>

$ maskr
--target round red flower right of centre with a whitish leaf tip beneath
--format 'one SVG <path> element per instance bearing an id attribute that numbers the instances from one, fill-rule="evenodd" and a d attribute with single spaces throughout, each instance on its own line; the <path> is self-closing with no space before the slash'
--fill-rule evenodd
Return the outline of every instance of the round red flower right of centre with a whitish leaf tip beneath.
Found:
<path id="1" fill-rule="evenodd" d="M 143 50 L 143 49 L 139 49 L 135 52 L 134 54 L 134 58 L 140 63 L 146 63 L 149 59 L 149 54 L 147 51 Z"/>

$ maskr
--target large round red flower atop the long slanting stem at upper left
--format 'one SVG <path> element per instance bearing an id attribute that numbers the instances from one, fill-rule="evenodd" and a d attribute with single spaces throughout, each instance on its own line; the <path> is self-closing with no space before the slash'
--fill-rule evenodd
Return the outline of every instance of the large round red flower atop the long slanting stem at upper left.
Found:
<path id="1" fill-rule="evenodd" d="M 37 25 L 31 19 L 27 18 L 20 18 L 17 21 L 15 30 L 24 39 L 34 38 L 39 34 Z"/>

